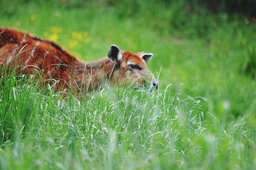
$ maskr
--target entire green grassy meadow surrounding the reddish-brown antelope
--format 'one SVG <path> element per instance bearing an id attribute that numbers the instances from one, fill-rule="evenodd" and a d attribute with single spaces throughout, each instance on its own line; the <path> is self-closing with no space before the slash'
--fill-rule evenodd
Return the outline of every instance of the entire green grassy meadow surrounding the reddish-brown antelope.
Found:
<path id="1" fill-rule="evenodd" d="M 63 101 L 1 69 L 0 169 L 256 169 L 256 17 L 168 2 L 2 1 L 0 27 L 81 60 L 154 53 L 159 89 Z"/>

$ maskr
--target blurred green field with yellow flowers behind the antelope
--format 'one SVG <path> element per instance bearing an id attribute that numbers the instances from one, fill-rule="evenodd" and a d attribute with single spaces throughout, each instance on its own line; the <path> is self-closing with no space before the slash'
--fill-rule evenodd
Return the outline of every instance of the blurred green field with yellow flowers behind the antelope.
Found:
<path id="1" fill-rule="evenodd" d="M 112 44 L 152 52 L 148 67 L 159 78 L 159 92 L 172 84 L 173 96 L 204 97 L 204 112 L 221 128 L 245 117 L 253 136 L 255 9 L 253 0 L 2 0 L 0 27 L 56 41 L 86 61 L 106 57 Z"/>

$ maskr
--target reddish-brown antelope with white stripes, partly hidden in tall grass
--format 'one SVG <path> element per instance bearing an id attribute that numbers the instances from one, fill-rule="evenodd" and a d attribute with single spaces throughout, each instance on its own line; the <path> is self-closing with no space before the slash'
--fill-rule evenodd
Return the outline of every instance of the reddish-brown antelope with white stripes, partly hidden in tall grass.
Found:
<path id="1" fill-rule="evenodd" d="M 152 53 L 122 52 L 112 45 L 108 57 L 86 63 L 52 41 L 0 28 L 0 66 L 16 67 L 19 74 L 40 72 L 43 80 L 56 80 L 59 91 L 90 92 L 105 83 L 145 85 L 147 81 L 157 88 L 158 83 L 146 65 L 152 56 Z"/>

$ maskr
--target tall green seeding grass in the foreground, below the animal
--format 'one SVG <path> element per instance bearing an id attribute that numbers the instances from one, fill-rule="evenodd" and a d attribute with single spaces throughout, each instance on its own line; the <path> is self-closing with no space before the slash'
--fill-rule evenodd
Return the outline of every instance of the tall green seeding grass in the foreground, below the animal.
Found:
<path id="1" fill-rule="evenodd" d="M 246 118 L 223 127 L 202 97 L 114 87 L 63 101 L 33 80 L 4 77 L 1 169 L 253 167 Z"/>

